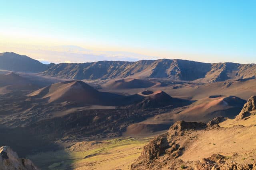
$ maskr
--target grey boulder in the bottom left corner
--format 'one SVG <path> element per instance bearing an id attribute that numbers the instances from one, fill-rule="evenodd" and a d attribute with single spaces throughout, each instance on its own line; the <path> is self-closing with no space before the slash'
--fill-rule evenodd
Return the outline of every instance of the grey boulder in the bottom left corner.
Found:
<path id="1" fill-rule="evenodd" d="M 0 147 L 0 170 L 39 170 L 29 159 L 19 158 L 10 147 Z"/>

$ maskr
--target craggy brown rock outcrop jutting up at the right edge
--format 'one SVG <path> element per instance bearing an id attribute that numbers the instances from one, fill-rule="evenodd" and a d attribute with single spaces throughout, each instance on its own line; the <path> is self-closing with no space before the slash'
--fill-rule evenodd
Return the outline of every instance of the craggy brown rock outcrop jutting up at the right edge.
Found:
<path id="1" fill-rule="evenodd" d="M 244 104 L 242 111 L 236 116 L 237 120 L 244 119 L 250 115 L 256 114 L 256 96 L 249 98 L 248 102 Z"/>

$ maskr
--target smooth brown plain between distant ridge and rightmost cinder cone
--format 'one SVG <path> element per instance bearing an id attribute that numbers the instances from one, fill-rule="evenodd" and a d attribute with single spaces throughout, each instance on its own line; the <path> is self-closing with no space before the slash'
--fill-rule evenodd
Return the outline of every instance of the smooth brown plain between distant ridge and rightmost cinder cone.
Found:
<path id="1" fill-rule="evenodd" d="M 178 88 L 173 88 L 178 87 Z M 122 94 L 136 94 L 144 90 L 162 90 L 174 98 L 182 98 L 186 100 L 200 100 L 212 95 L 236 96 L 244 100 L 248 100 L 250 96 L 256 95 L 256 80 L 248 80 L 245 82 L 216 82 L 211 84 L 170 84 L 169 86 L 152 86 L 150 88 L 134 88 L 112 90 L 102 88 L 101 91 L 117 92 Z"/>

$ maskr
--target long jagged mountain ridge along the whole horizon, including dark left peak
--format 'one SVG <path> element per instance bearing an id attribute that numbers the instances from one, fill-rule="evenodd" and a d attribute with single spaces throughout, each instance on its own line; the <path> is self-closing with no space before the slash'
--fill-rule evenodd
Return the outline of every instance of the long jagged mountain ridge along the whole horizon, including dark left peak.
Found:
<path id="1" fill-rule="evenodd" d="M 212 83 L 256 77 L 256 64 L 211 64 L 180 59 L 42 64 L 27 56 L 20 56 L 15 53 L 0 53 L 0 69 L 41 72 L 40 74 L 43 76 L 76 80 L 167 78 Z"/>

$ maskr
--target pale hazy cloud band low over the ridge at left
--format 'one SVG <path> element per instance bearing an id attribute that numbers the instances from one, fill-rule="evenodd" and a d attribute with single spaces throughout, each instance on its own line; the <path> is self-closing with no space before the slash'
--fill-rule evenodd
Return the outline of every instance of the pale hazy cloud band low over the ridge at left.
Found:
<path id="1" fill-rule="evenodd" d="M 95 61 L 138 61 L 157 59 L 147 55 L 125 51 L 95 51 L 74 45 L 42 46 L 42 45 L 1 45 L 0 49 L 27 55 L 41 63 L 86 63 Z"/>

